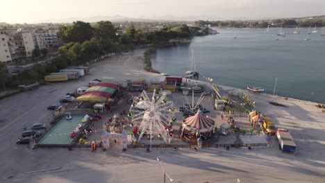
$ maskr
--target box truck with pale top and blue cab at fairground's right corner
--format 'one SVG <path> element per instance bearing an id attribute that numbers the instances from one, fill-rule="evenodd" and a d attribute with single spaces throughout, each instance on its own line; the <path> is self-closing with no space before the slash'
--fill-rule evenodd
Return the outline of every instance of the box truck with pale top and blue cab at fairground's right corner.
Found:
<path id="1" fill-rule="evenodd" d="M 276 132 L 276 137 L 278 137 L 279 148 L 283 153 L 294 153 L 296 150 L 296 143 L 294 143 L 289 132 L 278 130 Z"/>

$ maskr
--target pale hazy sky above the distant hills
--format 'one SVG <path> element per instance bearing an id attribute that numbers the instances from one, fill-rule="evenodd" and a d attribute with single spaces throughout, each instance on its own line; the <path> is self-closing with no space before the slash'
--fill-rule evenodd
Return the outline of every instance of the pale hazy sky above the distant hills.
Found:
<path id="1" fill-rule="evenodd" d="M 325 15 L 325 0 L 1 0 L 0 22 L 121 15 L 143 19 L 238 19 Z"/>

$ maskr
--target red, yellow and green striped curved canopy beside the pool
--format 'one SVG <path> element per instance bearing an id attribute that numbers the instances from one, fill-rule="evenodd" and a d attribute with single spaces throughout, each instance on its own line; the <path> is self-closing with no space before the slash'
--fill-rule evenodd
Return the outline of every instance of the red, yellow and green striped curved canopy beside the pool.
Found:
<path id="1" fill-rule="evenodd" d="M 117 82 L 99 82 L 78 96 L 76 100 L 103 103 L 115 93 L 118 87 Z"/>

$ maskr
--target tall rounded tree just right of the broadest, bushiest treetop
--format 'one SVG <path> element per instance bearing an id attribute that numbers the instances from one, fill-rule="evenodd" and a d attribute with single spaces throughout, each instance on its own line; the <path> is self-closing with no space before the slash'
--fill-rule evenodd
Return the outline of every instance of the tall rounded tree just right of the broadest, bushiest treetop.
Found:
<path id="1" fill-rule="evenodd" d="M 116 36 L 116 30 L 110 21 L 99 21 L 94 26 L 94 38 L 99 40 L 104 50 L 108 50 L 112 38 Z"/>

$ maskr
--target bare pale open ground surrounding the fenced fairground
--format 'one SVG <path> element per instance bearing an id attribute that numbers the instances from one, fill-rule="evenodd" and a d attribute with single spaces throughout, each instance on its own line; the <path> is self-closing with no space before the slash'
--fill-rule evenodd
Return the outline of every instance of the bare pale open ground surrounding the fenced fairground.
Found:
<path id="1" fill-rule="evenodd" d="M 288 128 L 297 152 L 281 153 L 272 148 L 128 149 L 118 147 L 105 153 L 90 150 L 38 149 L 17 146 L 23 125 L 49 123 L 46 107 L 58 103 L 67 92 L 101 77 L 138 79 L 158 76 L 143 71 L 143 49 L 131 55 L 92 64 L 90 75 L 76 81 L 45 85 L 0 101 L 0 182 L 163 182 L 163 171 L 174 182 L 324 182 L 325 113 L 315 103 L 276 98 L 288 107 L 269 105 L 272 96 L 251 94 L 258 111 L 271 116 L 279 128 Z M 183 73 L 180 73 L 182 75 Z M 226 87 L 225 87 L 226 88 Z M 56 169 L 56 170 L 54 170 Z M 35 171 L 35 172 L 33 172 Z M 168 182 L 168 179 L 167 179 Z"/>

